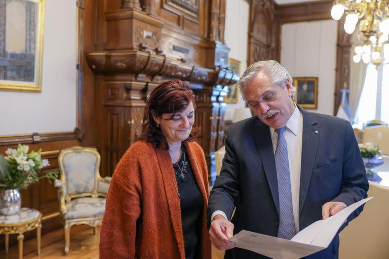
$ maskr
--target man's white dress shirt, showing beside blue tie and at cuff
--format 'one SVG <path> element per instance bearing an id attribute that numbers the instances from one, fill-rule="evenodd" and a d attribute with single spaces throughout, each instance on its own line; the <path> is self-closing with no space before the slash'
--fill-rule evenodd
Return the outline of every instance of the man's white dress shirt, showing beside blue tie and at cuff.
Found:
<path id="1" fill-rule="evenodd" d="M 300 198 L 300 175 L 301 175 L 301 150 L 302 150 L 302 114 L 294 104 L 294 112 L 286 123 L 284 137 L 288 146 L 288 159 L 290 171 L 290 185 L 292 192 L 292 207 L 293 218 L 296 233 L 299 232 L 299 198 Z M 273 151 L 276 152 L 278 133 L 274 128 L 270 127 L 271 142 L 273 142 Z M 216 210 L 212 213 L 211 221 L 216 215 L 222 215 L 227 219 L 226 214 L 221 210 Z"/>

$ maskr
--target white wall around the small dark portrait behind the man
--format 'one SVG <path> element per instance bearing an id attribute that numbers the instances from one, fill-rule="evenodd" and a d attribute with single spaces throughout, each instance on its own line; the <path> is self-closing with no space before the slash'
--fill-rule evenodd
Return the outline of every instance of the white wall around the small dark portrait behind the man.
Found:
<path id="1" fill-rule="evenodd" d="M 318 77 L 318 109 L 333 115 L 337 22 L 334 20 L 284 24 L 281 64 L 292 77 Z"/>

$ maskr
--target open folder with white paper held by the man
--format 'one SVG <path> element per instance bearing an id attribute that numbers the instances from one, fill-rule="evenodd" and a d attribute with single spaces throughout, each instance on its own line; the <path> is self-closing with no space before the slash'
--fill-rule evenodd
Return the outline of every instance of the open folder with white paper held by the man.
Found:
<path id="1" fill-rule="evenodd" d="M 324 221 L 314 222 L 297 233 L 291 240 L 246 230 L 242 230 L 229 240 L 237 243 L 239 248 L 248 249 L 274 259 L 301 258 L 327 248 L 347 217 L 372 198 L 351 204 Z"/>

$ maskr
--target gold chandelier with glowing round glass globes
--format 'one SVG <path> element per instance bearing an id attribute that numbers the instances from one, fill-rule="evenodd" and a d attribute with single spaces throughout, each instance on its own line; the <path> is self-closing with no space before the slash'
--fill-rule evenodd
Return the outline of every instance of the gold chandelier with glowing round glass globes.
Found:
<path id="1" fill-rule="evenodd" d="M 339 20 L 346 13 L 344 30 L 352 34 L 359 22 L 359 41 L 354 48 L 355 63 L 389 61 L 389 2 L 387 0 L 335 0 L 331 16 Z"/>

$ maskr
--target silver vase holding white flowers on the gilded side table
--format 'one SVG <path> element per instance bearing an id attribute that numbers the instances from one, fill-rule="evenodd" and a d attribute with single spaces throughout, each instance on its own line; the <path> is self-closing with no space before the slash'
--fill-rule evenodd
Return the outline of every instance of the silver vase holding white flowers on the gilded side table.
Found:
<path id="1" fill-rule="evenodd" d="M 13 215 L 19 212 L 22 198 L 19 189 L 0 191 L 0 214 Z"/>

